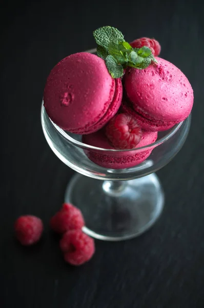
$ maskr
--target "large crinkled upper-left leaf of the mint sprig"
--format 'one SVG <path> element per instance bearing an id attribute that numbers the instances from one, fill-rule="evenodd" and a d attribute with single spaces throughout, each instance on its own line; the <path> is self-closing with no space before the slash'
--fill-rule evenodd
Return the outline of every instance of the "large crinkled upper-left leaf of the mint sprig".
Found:
<path id="1" fill-rule="evenodd" d="M 124 42 L 124 35 L 116 28 L 106 26 L 101 27 L 93 32 L 97 45 L 104 47 L 108 51 L 110 42 Z"/>

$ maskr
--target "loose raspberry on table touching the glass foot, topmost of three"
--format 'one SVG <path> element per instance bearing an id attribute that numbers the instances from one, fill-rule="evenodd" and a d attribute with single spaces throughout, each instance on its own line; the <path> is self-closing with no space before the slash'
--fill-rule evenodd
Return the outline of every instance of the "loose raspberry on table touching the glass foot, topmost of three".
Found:
<path id="1" fill-rule="evenodd" d="M 56 233 L 65 233 L 72 229 L 81 229 L 85 225 L 81 211 L 70 203 L 64 203 L 50 220 L 50 226 Z"/>

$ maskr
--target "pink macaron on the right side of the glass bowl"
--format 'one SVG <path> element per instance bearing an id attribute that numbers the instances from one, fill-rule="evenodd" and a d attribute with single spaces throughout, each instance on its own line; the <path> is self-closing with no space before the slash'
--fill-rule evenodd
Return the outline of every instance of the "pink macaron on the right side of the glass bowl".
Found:
<path id="1" fill-rule="evenodd" d="M 171 128 L 185 120 L 193 107 L 193 89 L 186 76 L 172 63 L 156 60 L 146 69 L 127 69 L 123 79 L 121 109 L 148 131 Z"/>

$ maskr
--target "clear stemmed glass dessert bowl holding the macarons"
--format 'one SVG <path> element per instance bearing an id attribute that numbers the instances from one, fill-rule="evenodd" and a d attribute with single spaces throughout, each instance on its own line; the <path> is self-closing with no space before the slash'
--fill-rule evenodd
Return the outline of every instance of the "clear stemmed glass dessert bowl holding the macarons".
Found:
<path id="1" fill-rule="evenodd" d="M 164 191 L 154 172 L 169 163 L 185 143 L 191 115 L 173 128 L 158 132 L 156 142 L 131 150 L 107 150 L 81 142 L 80 135 L 54 124 L 43 105 L 41 120 L 55 155 L 78 172 L 67 186 L 65 202 L 82 211 L 85 233 L 119 241 L 134 238 L 155 223 L 164 207 Z M 124 169 L 105 168 L 89 159 L 131 157 L 147 151 L 151 153 L 144 162 Z"/>

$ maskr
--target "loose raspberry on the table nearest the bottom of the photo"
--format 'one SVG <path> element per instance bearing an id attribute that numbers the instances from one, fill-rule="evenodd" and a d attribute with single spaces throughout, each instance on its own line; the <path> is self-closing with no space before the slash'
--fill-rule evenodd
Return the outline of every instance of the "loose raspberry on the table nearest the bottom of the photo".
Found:
<path id="1" fill-rule="evenodd" d="M 67 231 L 59 243 L 66 262 L 81 265 L 91 259 L 95 252 L 94 240 L 81 230 Z"/>

